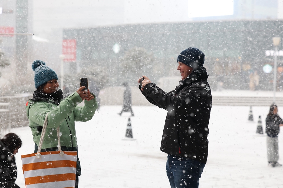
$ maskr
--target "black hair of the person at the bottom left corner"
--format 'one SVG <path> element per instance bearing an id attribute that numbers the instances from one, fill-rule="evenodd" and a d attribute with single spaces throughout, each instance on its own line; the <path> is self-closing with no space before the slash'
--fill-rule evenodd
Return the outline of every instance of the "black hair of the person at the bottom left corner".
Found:
<path id="1" fill-rule="evenodd" d="M 15 133 L 8 133 L 2 139 L 1 142 L 4 144 L 6 148 L 10 150 L 10 152 L 14 152 L 16 149 L 22 147 L 22 140 Z"/>

